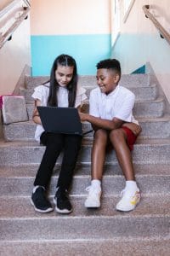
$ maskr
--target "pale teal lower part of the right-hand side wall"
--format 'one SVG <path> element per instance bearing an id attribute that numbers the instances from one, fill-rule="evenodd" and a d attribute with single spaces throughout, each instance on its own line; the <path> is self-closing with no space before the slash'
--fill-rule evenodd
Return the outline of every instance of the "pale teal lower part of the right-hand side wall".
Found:
<path id="1" fill-rule="evenodd" d="M 159 70 L 158 73 L 169 73 L 169 44 L 159 33 L 122 33 L 111 56 L 121 62 L 122 73 L 132 73 L 147 62 Z M 144 68 L 140 72 L 144 72 Z"/>

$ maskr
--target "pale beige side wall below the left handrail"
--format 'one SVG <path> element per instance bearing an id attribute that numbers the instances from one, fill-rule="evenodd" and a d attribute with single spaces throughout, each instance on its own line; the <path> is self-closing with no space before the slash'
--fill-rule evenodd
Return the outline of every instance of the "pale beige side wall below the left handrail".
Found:
<path id="1" fill-rule="evenodd" d="M 31 66 L 30 18 L 0 49 L 0 95 L 12 94 L 26 66 Z"/>

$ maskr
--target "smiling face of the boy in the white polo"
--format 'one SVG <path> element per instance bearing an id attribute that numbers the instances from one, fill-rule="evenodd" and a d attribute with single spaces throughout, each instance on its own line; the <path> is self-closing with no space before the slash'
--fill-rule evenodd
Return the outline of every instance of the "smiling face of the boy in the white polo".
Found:
<path id="1" fill-rule="evenodd" d="M 108 95 L 111 91 L 115 90 L 120 77 L 119 74 L 111 69 L 99 68 L 96 79 L 101 92 Z"/>

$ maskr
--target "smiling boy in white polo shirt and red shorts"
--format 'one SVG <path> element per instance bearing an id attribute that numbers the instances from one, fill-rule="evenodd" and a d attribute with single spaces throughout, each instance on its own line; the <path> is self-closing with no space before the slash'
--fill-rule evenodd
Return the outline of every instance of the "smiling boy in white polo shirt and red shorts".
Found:
<path id="1" fill-rule="evenodd" d="M 133 210 L 140 200 L 130 152 L 141 131 L 132 113 L 135 96 L 118 84 L 121 79 L 121 67 L 116 59 L 99 61 L 96 78 L 99 87 L 91 91 L 89 114 L 80 113 L 82 121 L 90 122 L 94 128 L 92 181 L 85 207 L 100 207 L 105 151 L 109 142 L 116 151 L 117 160 L 126 179 L 122 199 L 117 203 L 116 210 L 128 212 Z"/>

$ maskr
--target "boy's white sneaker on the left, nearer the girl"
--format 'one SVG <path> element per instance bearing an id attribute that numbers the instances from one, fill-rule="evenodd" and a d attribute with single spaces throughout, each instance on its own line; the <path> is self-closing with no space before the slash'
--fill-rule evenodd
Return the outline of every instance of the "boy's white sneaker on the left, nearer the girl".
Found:
<path id="1" fill-rule="evenodd" d="M 89 186 L 86 188 L 88 191 L 87 200 L 84 202 L 84 206 L 87 208 L 98 208 L 100 207 L 101 188 Z"/>

